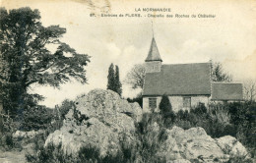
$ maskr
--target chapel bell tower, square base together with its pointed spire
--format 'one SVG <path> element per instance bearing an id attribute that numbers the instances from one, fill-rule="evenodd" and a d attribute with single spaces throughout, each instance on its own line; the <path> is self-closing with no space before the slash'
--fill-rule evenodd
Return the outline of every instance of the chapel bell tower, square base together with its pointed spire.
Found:
<path id="1" fill-rule="evenodd" d="M 148 57 L 145 60 L 146 73 L 158 73 L 161 68 L 160 52 L 153 36 Z"/>

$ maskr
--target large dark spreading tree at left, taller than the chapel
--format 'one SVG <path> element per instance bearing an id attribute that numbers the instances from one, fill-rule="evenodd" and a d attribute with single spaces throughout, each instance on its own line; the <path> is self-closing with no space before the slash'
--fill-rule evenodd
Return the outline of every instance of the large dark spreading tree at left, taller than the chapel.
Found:
<path id="1" fill-rule="evenodd" d="M 90 56 L 79 54 L 60 38 L 66 29 L 43 27 L 38 10 L 0 9 L 0 86 L 4 109 L 13 115 L 37 105 L 43 97 L 32 84 L 59 88 L 72 79 L 87 82 Z"/>

